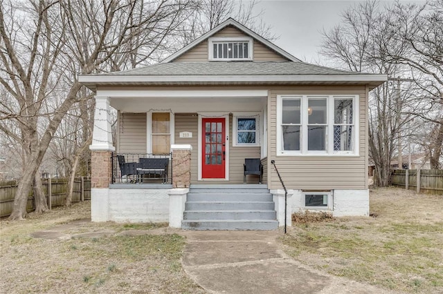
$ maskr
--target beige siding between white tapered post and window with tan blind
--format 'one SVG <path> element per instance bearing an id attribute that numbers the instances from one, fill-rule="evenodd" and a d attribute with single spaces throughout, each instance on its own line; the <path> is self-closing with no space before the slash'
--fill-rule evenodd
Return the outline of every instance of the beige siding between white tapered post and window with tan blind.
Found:
<path id="1" fill-rule="evenodd" d="M 146 153 L 146 113 L 118 112 L 118 153 Z"/>

